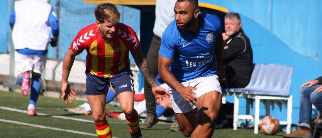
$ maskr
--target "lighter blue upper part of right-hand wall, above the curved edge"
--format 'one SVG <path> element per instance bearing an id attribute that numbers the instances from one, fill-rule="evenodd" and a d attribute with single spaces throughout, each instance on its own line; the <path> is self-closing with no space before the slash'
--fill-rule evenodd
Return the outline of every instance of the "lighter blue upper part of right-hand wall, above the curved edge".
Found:
<path id="1" fill-rule="evenodd" d="M 322 2 L 318 0 L 199 0 L 238 12 L 272 32 L 298 54 L 318 58 Z"/>

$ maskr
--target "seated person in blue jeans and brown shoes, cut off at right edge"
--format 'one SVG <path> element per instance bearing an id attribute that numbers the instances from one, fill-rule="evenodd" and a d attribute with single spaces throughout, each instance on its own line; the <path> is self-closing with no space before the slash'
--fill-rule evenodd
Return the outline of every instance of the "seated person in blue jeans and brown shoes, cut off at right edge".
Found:
<path id="1" fill-rule="evenodd" d="M 284 134 L 283 137 L 287 138 L 304 138 L 312 137 L 310 124 L 312 115 L 312 104 L 318 111 L 322 111 L 322 76 L 308 81 L 301 85 L 300 92 L 300 112 L 299 112 L 299 127 L 290 134 Z M 321 138 L 321 137 L 320 137 Z"/>

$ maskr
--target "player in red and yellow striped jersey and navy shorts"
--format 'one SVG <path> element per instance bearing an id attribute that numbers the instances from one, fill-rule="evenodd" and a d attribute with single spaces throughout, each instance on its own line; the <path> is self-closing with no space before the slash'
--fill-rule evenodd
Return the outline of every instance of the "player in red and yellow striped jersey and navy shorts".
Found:
<path id="1" fill-rule="evenodd" d="M 112 137 L 105 116 L 105 99 L 110 86 L 119 95 L 121 109 L 130 127 L 131 137 L 142 137 L 138 126 L 138 114 L 134 109 L 133 74 L 129 69 L 131 52 L 138 68 L 152 87 L 159 103 L 169 103 L 169 92 L 159 87 L 150 66 L 142 54 L 140 41 L 131 27 L 118 23 L 120 13 L 115 5 L 104 3 L 95 8 L 96 23 L 83 28 L 71 43 L 62 74 L 62 98 L 72 104 L 68 76 L 75 56 L 86 50 L 86 90 L 98 137 Z"/>

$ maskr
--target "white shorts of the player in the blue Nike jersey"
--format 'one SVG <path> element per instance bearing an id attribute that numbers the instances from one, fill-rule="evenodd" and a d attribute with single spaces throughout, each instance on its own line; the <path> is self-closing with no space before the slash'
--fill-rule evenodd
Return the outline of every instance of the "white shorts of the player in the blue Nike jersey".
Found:
<path id="1" fill-rule="evenodd" d="M 194 90 L 194 92 L 197 94 L 197 98 L 211 91 L 218 91 L 220 94 L 222 93 L 217 75 L 200 77 L 187 82 L 183 82 L 181 84 L 185 87 L 191 86 L 197 88 L 196 90 Z M 197 108 L 194 102 L 186 101 L 177 91 L 175 91 L 171 87 L 168 88 L 171 96 L 172 107 L 175 113 L 188 113 L 191 110 Z"/>

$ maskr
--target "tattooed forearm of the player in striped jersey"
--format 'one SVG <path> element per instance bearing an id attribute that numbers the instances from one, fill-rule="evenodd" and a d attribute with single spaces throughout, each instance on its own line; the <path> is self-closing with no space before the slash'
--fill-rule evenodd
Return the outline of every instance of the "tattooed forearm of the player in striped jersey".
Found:
<path id="1" fill-rule="evenodd" d="M 156 83 L 156 77 L 152 75 L 151 68 L 149 63 L 147 62 L 147 58 L 143 55 L 141 50 L 137 53 L 132 54 L 137 67 L 141 71 L 142 75 L 147 79 L 147 82 L 150 84 L 151 87 L 155 87 L 158 84 Z"/>

